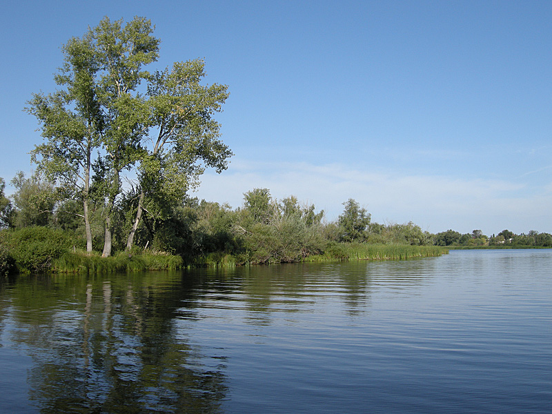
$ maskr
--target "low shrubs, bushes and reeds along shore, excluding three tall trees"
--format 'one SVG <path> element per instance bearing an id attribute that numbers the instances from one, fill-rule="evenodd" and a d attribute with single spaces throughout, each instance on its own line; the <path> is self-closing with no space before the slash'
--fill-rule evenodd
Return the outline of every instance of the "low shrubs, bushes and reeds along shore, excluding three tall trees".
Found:
<path id="1" fill-rule="evenodd" d="M 113 253 L 86 250 L 86 229 L 79 204 L 59 201 L 54 184 L 39 176 L 17 175 L 17 191 L 3 194 L 0 179 L 0 274 L 113 273 L 171 270 L 195 266 L 246 266 L 290 262 L 388 260 L 431 257 L 455 248 L 546 248 L 552 236 L 502 230 L 488 237 L 480 230 L 431 234 L 413 223 L 378 224 L 357 201 L 344 202 L 336 221 L 296 197 L 273 199 L 266 188 L 244 194 L 244 204 L 230 208 L 186 198 L 171 206 L 165 219 L 144 214 L 135 229 L 135 244 L 126 246 L 132 216 L 114 215 Z M 134 200 L 131 211 L 137 208 Z M 132 203 L 131 203 L 132 206 Z M 103 205 L 92 204 L 93 242 L 101 246 Z"/>

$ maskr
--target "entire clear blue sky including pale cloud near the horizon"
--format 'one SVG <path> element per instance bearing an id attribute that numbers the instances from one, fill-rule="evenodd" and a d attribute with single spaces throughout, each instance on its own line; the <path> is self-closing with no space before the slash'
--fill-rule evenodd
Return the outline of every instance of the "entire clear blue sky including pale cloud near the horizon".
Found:
<path id="1" fill-rule="evenodd" d="M 235 152 L 197 197 L 242 204 L 269 188 L 326 211 L 359 201 L 373 221 L 492 235 L 552 233 L 550 1 L 19 1 L 3 6 L 0 177 L 30 172 L 61 45 L 144 16 L 155 68 L 204 58 L 230 97 Z M 10 188 L 8 188 L 8 193 Z"/>

